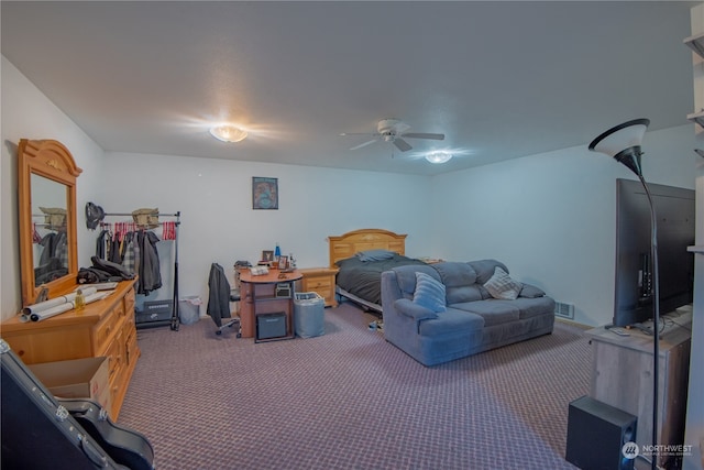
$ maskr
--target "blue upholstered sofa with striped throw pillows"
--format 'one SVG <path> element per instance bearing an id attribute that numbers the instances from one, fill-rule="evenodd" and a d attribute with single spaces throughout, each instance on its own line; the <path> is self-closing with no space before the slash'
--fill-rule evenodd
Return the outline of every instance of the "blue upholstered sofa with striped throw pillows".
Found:
<path id="1" fill-rule="evenodd" d="M 399 266 L 382 273 L 384 336 L 436 365 L 552 332 L 554 300 L 512 280 L 496 260 Z"/>

